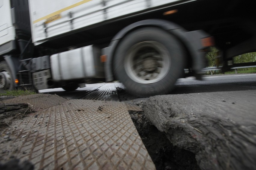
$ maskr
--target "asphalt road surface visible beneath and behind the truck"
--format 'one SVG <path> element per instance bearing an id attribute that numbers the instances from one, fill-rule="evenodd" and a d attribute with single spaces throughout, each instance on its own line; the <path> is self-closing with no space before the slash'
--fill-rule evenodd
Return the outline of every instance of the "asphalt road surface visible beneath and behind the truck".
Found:
<path id="1" fill-rule="evenodd" d="M 72 92 L 66 92 L 62 88 L 44 89 L 39 90 L 39 92 L 44 94 L 56 94 L 69 99 L 77 99 L 104 84 L 105 83 L 87 84 L 86 87 L 78 88 Z M 123 86 L 121 83 L 114 84 L 115 86 Z M 240 91 L 252 89 L 256 89 L 256 74 L 212 75 L 204 76 L 203 81 L 196 80 L 194 77 L 178 79 L 175 89 L 171 94 Z"/>

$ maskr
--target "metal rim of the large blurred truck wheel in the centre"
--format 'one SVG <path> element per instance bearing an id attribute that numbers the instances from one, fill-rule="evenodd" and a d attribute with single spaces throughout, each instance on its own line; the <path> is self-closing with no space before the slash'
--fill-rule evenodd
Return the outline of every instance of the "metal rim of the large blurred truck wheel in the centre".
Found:
<path id="1" fill-rule="evenodd" d="M 163 79 L 171 64 L 164 45 L 156 41 L 139 42 L 126 53 L 124 66 L 127 75 L 137 83 L 150 84 Z"/>

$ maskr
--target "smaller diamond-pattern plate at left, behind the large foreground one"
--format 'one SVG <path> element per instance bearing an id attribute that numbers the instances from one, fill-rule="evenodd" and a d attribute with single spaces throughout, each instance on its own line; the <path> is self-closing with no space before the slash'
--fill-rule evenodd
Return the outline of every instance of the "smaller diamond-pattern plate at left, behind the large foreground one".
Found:
<path id="1" fill-rule="evenodd" d="M 4 100 L 2 103 L 11 104 L 11 103 L 29 103 L 33 106 L 34 111 L 48 109 L 49 107 L 62 104 L 69 99 L 62 98 L 58 95 L 49 95 L 49 94 L 34 94 L 20 96 L 17 98 L 12 98 L 9 100 Z"/>

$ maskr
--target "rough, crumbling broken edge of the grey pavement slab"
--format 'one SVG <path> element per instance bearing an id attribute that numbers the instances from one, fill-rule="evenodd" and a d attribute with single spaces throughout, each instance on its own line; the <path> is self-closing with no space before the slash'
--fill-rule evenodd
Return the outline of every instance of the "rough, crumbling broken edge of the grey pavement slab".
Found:
<path id="1" fill-rule="evenodd" d="M 182 119 L 167 119 L 171 116 L 156 114 L 160 108 L 152 111 L 149 102 L 150 99 L 144 101 L 142 107 L 146 118 L 165 132 L 173 145 L 196 154 L 201 169 L 256 169 L 253 128 L 216 115 L 193 117 L 187 114 Z"/>

